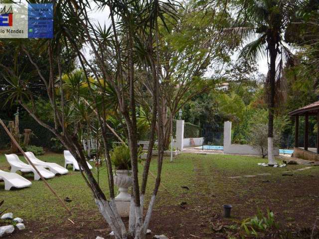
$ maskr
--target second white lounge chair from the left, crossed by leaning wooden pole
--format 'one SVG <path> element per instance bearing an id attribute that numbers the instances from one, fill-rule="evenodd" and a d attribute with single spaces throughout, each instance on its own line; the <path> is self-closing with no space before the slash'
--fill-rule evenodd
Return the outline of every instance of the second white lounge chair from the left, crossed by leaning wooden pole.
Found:
<path id="1" fill-rule="evenodd" d="M 15 173 L 16 171 L 21 171 L 23 173 L 33 172 L 34 180 L 36 180 L 36 181 L 40 180 L 40 176 L 37 174 L 35 169 L 31 165 L 28 165 L 28 164 L 22 162 L 16 154 L 13 154 L 13 153 L 12 154 L 5 154 L 5 157 L 6 157 L 6 161 L 8 161 L 8 163 L 11 166 L 11 173 Z M 43 168 L 41 166 L 36 166 L 36 169 L 40 172 L 40 174 L 44 178 L 53 178 L 54 177 L 54 173 L 50 172 L 49 170 L 46 170 L 45 168 Z"/>

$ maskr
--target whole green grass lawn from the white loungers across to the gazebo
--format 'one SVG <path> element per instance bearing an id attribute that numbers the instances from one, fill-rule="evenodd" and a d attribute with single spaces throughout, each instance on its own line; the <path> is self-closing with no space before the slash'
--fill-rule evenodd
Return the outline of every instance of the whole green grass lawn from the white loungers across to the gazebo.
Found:
<path id="1" fill-rule="evenodd" d="M 64 165 L 62 154 L 50 153 L 38 158 Z M 22 157 L 20 159 L 25 161 Z M 293 215 L 294 210 L 302 210 L 299 207 L 302 207 L 303 203 L 316 203 L 317 205 L 318 201 L 312 201 L 315 198 L 302 198 L 303 195 L 300 195 L 300 198 L 288 198 L 285 193 L 287 191 L 287 195 L 289 194 L 290 186 L 287 185 L 291 185 L 293 181 L 295 184 L 292 187 L 295 188 L 299 188 L 299 185 L 296 185 L 299 180 L 303 182 L 305 180 L 318 181 L 319 167 L 312 167 L 305 171 L 295 171 L 294 177 L 284 177 L 282 172 L 296 170 L 305 166 L 288 165 L 285 168 L 257 166 L 257 163 L 266 162 L 266 160 L 252 156 L 184 153 L 174 158 L 174 162 L 170 163 L 167 157 L 163 162 L 161 182 L 169 193 L 162 187 L 160 188 L 155 210 L 176 206 L 181 201 L 187 201 L 189 205 L 196 205 L 201 202 L 202 205 L 209 206 L 210 210 L 220 212 L 221 205 L 231 203 L 235 214 L 232 220 L 240 223 L 243 218 L 253 216 L 257 212 L 257 207 L 267 208 L 267 204 L 275 210 L 285 211 L 280 216 L 285 220 L 288 218 L 294 219 L 296 217 Z M 9 165 L 4 155 L 0 155 L 0 169 L 9 171 Z M 101 220 L 91 192 L 85 184 L 81 173 L 71 171 L 71 167 L 69 169 L 67 175 L 57 176 L 48 180 L 61 198 L 69 197 L 72 200 L 67 205 L 72 209 L 73 216 L 68 218 L 74 220 L 81 213 L 91 211 L 94 212 L 90 216 L 91 220 Z M 152 160 L 150 170 L 156 174 L 156 160 Z M 140 165 L 139 171 L 141 176 L 142 165 Z M 97 176 L 95 167 L 93 172 Z M 255 178 L 242 177 L 236 180 L 228 178 L 229 176 L 256 175 L 258 173 L 271 173 L 271 175 L 257 176 Z M 29 221 L 54 222 L 55 224 L 65 221 L 65 217 L 67 217 L 65 210 L 59 205 L 44 183 L 41 180 L 33 181 L 32 174 L 25 175 L 25 177 L 32 181 L 30 188 L 4 191 L 4 183 L 0 183 L 0 200 L 5 200 L 3 207 L 8 208 L 8 211 L 12 212 L 14 216 Z M 268 179 L 270 182 L 263 183 L 262 180 L 264 179 Z M 105 168 L 102 168 L 100 172 L 99 182 L 101 188 L 108 194 Z M 150 197 L 154 183 L 154 178 L 150 176 L 147 199 Z M 283 192 L 281 190 L 281 185 L 285 187 L 283 190 L 286 191 Z M 189 190 L 185 190 L 181 186 L 187 186 Z M 304 183 L 300 187 L 304 187 Z M 310 193 L 318 194 L 317 191 Z M 270 197 L 267 197 L 267 195 L 270 195 Z M 285 203 L 283 200 L 285 200 Z M 301 204 L 299 205 L 298 203 Z M 281 209 L 281 207 L 283 208 Z M 162 214 L 164 215 L 168 212 L 162 211 Z"/>

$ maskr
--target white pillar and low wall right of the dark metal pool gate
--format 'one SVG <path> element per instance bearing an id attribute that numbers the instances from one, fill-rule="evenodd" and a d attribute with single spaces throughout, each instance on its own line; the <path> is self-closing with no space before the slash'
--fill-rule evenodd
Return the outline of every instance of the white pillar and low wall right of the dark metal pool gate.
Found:
<path id="1" fill-rule="evenodd" d="M 251 145 L 231 143 L 231 121 L 224 122 L 224 153 L 260 155 Z M 274 147 L 274 155 L 279 155 L 279 148 Z"/>

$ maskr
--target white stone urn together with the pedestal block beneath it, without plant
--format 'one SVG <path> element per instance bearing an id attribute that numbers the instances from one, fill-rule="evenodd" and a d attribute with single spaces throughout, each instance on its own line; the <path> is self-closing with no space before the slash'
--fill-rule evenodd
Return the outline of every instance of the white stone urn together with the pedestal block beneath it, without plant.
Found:
<path id="1" fill-rule="evenodd" d="M 115 197 L 115 204 L 121 217 L 130 216 L 131 194 L 128 193 L 132 185 L 131 170 L 116 170 L 113 176 L 114 184 L 119 187 L 119 195 Z"/>

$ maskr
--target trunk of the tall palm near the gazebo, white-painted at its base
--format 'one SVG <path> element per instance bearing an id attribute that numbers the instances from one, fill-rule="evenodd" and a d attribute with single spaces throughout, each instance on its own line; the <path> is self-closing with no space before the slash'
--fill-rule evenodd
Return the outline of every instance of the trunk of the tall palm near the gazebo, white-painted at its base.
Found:
<path id="1" fill-rule="evenodd" d="M 270 69 L 269 69 L 269 86 L 268 92 L 268 164 L 276 164 L 274 157 L 274 109 L 275 109 L 275 78 L 276 78 L 276 38 L 271 36 L 268 41 L 270 54 Z"/>

